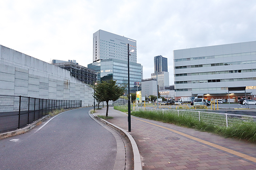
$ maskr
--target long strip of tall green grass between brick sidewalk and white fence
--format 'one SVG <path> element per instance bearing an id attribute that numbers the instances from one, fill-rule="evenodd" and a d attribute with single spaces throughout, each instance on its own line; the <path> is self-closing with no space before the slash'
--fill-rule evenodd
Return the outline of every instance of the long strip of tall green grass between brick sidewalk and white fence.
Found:
<path id="1" fill-rule="evenodd" d="M 240 124 L 224 127 L 199 121 L 198 118 L 194 118 L 192 116 L 178 116 L 175 113 L 163 114 L 161 111 L 133 111 L 131 112 L 131 115 L 165 123 L 172 123 L 183 127 L 194 128 L 204 132 L 211 132 L 228 138 L 236 138 L 256 143 L 255 122 L 242 122 Z"/>

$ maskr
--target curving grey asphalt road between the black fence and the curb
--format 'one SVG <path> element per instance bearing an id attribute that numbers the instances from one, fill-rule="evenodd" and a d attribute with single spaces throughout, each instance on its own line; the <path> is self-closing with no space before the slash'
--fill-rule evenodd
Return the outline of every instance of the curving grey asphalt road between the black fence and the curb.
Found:
<path id="1" fill-rule="evenodd" d="M 116 139 L 90 118 L 90 109 L 66 111 L 0 140 L 0 170 L 113 170 Z"/>

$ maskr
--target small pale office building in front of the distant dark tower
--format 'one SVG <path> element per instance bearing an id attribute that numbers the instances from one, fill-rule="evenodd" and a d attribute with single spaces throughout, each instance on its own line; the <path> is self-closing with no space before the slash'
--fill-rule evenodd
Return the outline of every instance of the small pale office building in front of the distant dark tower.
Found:
<path id="1" fill-rule="evenodd" d="M 165 90 L 165 87 L 169 87 L 169 72 L 152 73 L 151 78 L 157 79 L 158 90 Z"/>

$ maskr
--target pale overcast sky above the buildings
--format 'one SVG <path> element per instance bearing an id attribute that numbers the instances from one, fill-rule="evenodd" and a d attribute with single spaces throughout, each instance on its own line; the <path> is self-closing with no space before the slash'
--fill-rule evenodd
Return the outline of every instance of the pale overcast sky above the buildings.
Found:
<path id="1" fill-rule="evenodd" d="M 154 56 L 256 40 L 256 0 L 0 0 L 0 45 L 50 62 L 93 62 L 99 29 L 137 40 L 143 79 Z"/>

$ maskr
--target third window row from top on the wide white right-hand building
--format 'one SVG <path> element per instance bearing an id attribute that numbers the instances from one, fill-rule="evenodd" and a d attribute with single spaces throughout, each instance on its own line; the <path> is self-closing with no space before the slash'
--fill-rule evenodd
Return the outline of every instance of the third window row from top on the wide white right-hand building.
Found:
<path id="1" fill-rule="evenodd" d="M 209 74 L 229 74 L 229 73 L 247 73 L 247 72 L 256 72 L 256 69 L 244 69 L 244 70 L 229 70 L 229 71 L 208 71 L 201 73 L 184 73 L 184 74 L 175 74 L 175 77 L 180 76 L 197 76 L 197 75 L 209 75 Z"/>

